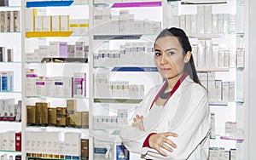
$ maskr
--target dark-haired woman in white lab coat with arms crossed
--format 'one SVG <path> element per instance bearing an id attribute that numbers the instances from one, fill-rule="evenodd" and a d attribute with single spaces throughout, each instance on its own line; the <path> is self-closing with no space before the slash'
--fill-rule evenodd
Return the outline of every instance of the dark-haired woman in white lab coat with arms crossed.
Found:
<path id="1" fill-rule="evenodd" d="M 196 75 L 191 45 L 178 28 L 160 32 L 154 59 L 164 83 L 150 89 L 120 137 L 144 159 L 208 157 L 210 116 L 207 91 Z"/>

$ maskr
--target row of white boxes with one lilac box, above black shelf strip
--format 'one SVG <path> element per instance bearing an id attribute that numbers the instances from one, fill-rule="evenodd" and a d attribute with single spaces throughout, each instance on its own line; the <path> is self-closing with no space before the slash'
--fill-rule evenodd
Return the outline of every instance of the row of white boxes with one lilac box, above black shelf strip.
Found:
<path id="1" fill-rule="evenodd" d="M 26 53 L 26 62 L 41 61 L 44 58 L 88 58 L 89 45 L 85 42 L 67 44 L 67 42 L 49 42 L 39 45 L 33 53 Z"/>

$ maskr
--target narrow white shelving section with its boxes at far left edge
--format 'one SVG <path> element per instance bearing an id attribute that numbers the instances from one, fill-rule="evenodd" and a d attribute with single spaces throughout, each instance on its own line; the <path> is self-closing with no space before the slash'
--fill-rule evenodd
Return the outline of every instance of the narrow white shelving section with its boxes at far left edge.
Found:
<path id="1" fill-rule="evenodd" d="M 5 156 L 8 159 L 9 157 L 21 155 L 20 148 L 15 148 L 15 133 L 21 131 L 19 116 L 15 114 L 15 106 L 21 100 L 20 26 L 22 19 L 20 6 L 20 1 L 9 0 L 9 5 L 0 7 L 2 20 L 0 26 L 0 136 L 2 137 L 0 141 L 0 157 Z M 6 75 L 7 72 L 12 76 Z M 13 77 L 13 80 L 11 80 L 11 77 Z M 20 109 L 17 111 L 20 113 Z"/>

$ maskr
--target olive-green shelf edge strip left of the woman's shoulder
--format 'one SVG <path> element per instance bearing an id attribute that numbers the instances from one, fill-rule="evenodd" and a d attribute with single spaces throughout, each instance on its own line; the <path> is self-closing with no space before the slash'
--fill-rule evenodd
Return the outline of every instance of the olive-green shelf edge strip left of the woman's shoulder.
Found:
<path id="1" fill-rule="evenodd" d="M 107 98 L 95 98 L 94 103 L 126 103 L 126 104 L 138 104 L 141 99 L 107 99 Z"/>

